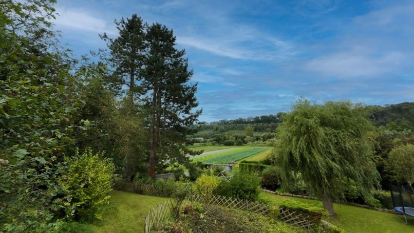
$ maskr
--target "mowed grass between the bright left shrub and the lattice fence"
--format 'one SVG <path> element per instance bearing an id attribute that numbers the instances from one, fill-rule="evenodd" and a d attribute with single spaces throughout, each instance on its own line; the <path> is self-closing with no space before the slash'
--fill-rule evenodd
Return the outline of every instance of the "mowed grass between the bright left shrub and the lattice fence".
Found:
<path id="1" fill-rule="evenodd" d="M 65 227 L 65 232 L 143 232 L 149 208 L 168 200 L 115 190 L 110 196 L 112 204 L 102 220 L 83 224 L 70 223 Z"/>

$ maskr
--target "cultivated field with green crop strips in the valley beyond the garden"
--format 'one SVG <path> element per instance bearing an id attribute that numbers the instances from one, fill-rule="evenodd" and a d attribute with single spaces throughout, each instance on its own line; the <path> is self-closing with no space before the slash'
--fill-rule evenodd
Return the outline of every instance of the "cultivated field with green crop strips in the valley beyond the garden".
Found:
<path id="1" fill-rule="evenodd" d="M 194 146 L 191 150 L 204 150 L 203 154 L 190 158 L 195 162 L 228 164 L 242 159 L 250 161 L 263 159 L 271 152 L 272 147 Z"/>

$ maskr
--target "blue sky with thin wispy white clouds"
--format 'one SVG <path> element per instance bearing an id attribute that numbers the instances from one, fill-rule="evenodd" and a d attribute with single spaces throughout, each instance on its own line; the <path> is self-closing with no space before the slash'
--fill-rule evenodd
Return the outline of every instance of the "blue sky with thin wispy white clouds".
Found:
<path id="1" fill-rule="evenodd" d="M 298 98 L 414 101 L 414 1 L 59 1 L 74 54 L 137 13 L 174 30 L 204 121 L 289 111 Z"/>

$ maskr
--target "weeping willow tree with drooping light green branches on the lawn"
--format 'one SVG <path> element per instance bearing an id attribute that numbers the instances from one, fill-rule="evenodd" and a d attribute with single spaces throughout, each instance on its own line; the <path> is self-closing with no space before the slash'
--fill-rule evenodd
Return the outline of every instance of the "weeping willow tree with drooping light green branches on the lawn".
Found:
<path id="1" fill-rule="evenodd" d="M 348 101 L 295 103 L 278 128 L 274 150 L 284 185 L 302 177 L 307 192 L 322 198 L 331 216 L 332 200 L 344 196 L 349 182 L 355 182 L 361 195 L 369 195 L 379 174 L 367 136 L 373 126 L 365 116 L 361 104 Z"/>

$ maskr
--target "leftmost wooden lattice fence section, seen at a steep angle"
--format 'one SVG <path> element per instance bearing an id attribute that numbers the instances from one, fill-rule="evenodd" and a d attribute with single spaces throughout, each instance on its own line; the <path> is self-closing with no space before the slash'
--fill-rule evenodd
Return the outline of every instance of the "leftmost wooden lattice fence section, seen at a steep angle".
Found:
<path id="1" fill-rule="evenodd" d="M 158 203 L 156 207 L 151 207 L 145 217 L 144 233 L 162 227 L 168 213 L 170 213 L 170 204 L 167 201 Z"/>

